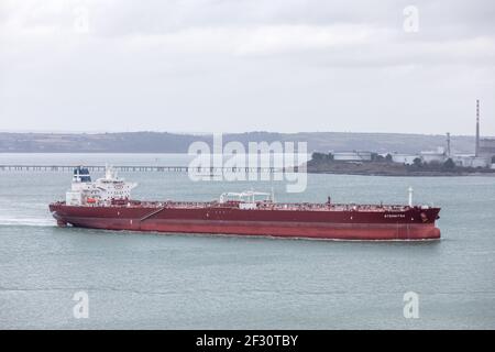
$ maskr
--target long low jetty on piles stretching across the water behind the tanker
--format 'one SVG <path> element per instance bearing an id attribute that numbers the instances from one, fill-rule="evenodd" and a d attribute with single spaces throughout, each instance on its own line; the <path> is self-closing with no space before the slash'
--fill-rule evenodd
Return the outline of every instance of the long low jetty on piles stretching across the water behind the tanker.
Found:
<path id="1" fill-rule="evenodd" d="M 0 165 L 0 172 L 73 172 L 78 165 Z M 105 165 L 85 165 L 90 172 L 105 172 Z M 112 166 L 114 169 L 122 173 L 189 173 L 195 170 L 199 173 L 290 173 L 298 172 L 298 167 L 189 167 L 189 166 L 160 166 L 160 165 L 118 165 Z"/>

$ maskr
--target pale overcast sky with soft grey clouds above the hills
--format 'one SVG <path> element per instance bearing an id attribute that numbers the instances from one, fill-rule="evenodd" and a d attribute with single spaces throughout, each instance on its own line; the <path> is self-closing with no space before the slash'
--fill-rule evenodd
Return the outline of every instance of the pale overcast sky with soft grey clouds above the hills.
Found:
<path id="1" fill-rule="evenodd" d="M 493 0 L 1 0 L 0 130 L 474 134 L 479 98 L 495 135 L 494 19 Z"/>

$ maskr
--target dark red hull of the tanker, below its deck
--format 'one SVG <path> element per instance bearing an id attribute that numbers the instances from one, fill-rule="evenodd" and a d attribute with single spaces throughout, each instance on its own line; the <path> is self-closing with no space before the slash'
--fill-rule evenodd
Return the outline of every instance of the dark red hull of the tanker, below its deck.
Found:
<path id="1" fill-rule="evenodd" d="M 52 205 L 58 226 L 164 233 L 231 234 L 326 240 L 436 240 L 438 211 L 427 221 L 419 211 L 402 215 L 232 209 L 145 209 L 127 207 L 69 207 Z"/>

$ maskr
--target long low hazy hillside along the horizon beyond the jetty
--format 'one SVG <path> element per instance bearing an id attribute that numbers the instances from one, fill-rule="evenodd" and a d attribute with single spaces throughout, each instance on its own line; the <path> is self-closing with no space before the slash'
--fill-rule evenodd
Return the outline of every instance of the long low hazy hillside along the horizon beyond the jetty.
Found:
<path id="1" fill-rule="evenodd" d="M 186 153 L 190 143 L 211 143 L 211 135 L 167 132 L 8 133 L 0 132 L 0 153 Z M 223 135 L 223 142 L 307 142 L 308 152 L 365 150 L 415 153 L 446 146 L 444 135 L 406 133 L 246 132 Z M 452 152 L 472 153 L 473 136 L 452 136 Z"/>

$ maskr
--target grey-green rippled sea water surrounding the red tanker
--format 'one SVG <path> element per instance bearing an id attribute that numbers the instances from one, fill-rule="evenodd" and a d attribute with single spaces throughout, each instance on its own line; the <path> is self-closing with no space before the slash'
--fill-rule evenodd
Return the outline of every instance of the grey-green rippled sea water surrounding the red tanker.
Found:
<path id="1" fill-rule="evenodd" d="M 184 163 L 164 154 L 6 154 L 0 164 Z M 100 176 L 100 175 L 94 175 Z M 0 170 L 0 328 L 494 329 L 495 177 L 309 175 L 284 182 L 191 182 L 121 175 L 134 198 L 210 200 L 273 187 L 280 201 L 440 206 L 442 240 L 342 242 L 57 228 L 47 205 L 70 174 Z M 76 319 L 75 293 L 88 295 Z M 405 293 L 419 318 L 406 319 Z"/>

